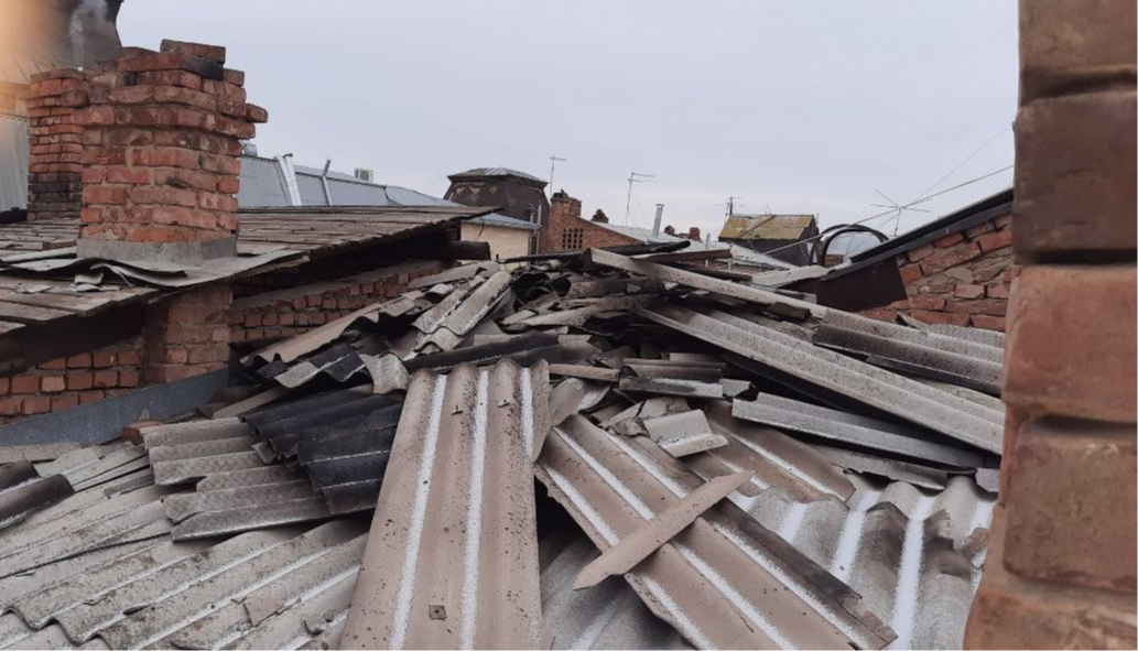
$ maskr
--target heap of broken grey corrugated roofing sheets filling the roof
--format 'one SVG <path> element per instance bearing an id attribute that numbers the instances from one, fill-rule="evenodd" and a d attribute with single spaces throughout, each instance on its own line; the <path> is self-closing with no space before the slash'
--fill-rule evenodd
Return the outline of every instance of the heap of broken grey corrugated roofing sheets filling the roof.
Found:
<path id="1" fill-rule="evenodd" d="M 9 450 L 0 648 L 959 648 L 1000 337 L 698 255 L 451 269 L 145 445 Z"/>

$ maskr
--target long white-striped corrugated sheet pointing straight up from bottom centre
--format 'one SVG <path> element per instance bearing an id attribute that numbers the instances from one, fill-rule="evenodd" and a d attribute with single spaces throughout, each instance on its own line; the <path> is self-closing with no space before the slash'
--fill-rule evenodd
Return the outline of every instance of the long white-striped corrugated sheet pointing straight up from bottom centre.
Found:
<path id="1" fill-rule="evenodd" d="M 545 364 L 414 376 L 346 648 L 539 646 L 531 460 L 547 392 Z"/>

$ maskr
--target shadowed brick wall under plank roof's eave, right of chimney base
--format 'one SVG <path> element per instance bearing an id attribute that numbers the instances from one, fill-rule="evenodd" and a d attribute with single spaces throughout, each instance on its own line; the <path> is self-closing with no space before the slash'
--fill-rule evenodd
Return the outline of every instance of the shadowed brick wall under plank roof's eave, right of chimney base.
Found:
<path id="1" fill-rule="evenodd" d="M 234 344 L 291 337 L 351 312 L 403 294 L 417 278 L 434 275 L 440 262 L 413 262 L 336 281 L 259 294 L 233 302 L 229 313 Z"/>

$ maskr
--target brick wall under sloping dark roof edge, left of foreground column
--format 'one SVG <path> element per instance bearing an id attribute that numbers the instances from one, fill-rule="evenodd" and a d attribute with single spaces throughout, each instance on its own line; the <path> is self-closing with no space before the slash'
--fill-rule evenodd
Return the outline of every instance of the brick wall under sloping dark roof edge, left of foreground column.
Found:
<path id="1" fill-rule="evenodd" d="M 863 312 L 893 321 L 906 314 L 924 323 L 1004 331 L 1016 267 L 1012 215 L 951 233 L 898 256 L 908 298 Z"/>

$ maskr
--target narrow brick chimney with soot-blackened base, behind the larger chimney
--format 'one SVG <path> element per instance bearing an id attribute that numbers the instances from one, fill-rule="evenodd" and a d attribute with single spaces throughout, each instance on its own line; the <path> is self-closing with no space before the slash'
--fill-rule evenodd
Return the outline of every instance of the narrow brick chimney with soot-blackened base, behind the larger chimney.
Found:
<path id="1" fill-rule="evenodd" d="M 86 80 L 83 73 L 65 68 L 34 75 L 31 82 L 27 219 L 77 217 L 83 196 L 83 127 L 75 124 L 74 114 L 86 101 Z"/>

